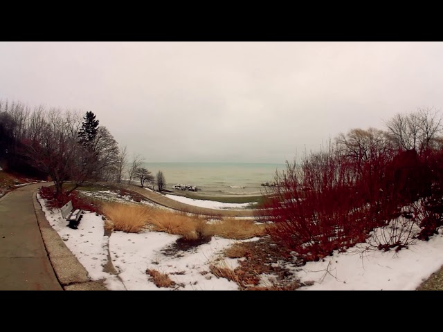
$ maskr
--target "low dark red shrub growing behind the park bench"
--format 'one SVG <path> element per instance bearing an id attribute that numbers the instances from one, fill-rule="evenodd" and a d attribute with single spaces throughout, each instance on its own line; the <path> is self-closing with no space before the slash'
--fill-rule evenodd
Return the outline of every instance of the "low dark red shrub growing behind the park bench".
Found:
<path id="1" fill-rule="evenodd" d="M 42 196 L 43 199 L 47 201 L 47 206 L 50 210 L 54 208 L 60 209 L 63 205 L 65 205 L 69 201 L 72 201 L 74 209 L 102 214 L 102 208 L 100 205 L 80 196 L 75 190 L 69 194 L 66 194 L 66 192 L 62 192 L 56 195 L 55 187 L 41 187 L 39 189 L 39 194 L 40 196 Z"/>

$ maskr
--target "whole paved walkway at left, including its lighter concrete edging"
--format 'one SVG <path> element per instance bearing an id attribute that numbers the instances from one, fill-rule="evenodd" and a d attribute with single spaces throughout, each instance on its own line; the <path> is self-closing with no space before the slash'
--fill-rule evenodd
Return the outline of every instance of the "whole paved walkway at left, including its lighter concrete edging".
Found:
<path id="1" fill-rule="evenodd" d="M 36 198 L 37 183 L 0 199 L 0 290 L 106 290 L 49 225 Z"/>

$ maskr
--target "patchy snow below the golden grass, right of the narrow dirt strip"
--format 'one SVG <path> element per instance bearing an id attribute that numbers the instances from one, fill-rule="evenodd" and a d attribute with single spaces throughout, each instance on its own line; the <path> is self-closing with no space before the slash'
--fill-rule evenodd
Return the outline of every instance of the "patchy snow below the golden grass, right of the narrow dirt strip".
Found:
<path id="1" fill-rule="evenodd" d="M 233 240 L 214 237 L 210 243 L 199 246 L 196 250 L 179 252 L 179 255 L 167 256 L 162 249 L 171 246 L 179 236 L 163 232 L 145 232 L 127 234 L 114 232 L 110 248 L 114 266 L 120 270 L 128 290 L 163 290 L 149 280 L 146 270 L 167 273 L 181 290 L 236 290 L 237 284 L 227 279 L 218 279 L 209 272 L 208 265 L 212 257 L 230 246 Z M 208 279 L 208 275 L 210 279 Z"/>

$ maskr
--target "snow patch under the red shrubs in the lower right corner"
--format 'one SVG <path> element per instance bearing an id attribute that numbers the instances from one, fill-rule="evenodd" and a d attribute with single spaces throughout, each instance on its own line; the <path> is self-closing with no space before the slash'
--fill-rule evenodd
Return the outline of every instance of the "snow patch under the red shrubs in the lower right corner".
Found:
<path id="1" fill-rule="evenodd" d="M 325 261 L 307 263 L 298 276 L 301 282 L 315 284 L 300 290 L 413 291 L 443 265 L 442 229 L 429 241 L 417 241 L 399 252 L 368 250 L 369 246 L 359 243 Z"/>

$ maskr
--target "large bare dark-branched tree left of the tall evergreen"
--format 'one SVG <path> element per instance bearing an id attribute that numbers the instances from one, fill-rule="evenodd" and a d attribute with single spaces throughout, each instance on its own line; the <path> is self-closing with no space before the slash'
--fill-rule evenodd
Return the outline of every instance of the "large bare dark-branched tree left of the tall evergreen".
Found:
<path id="1" fill-rule="evenodd" d="M 17 154 L 28 165 L 51 176 L 57 193 L 66 181 L 73 189 L 84 181 L 116 177 L 118 145 L 106 127 L 99 127 L 87 146 L 78 142 L 82 116 L 77 111 L 35 107 L 32 113 L 23 105 L 0 104 L 14 120 Z"/>

